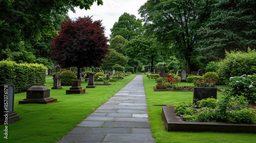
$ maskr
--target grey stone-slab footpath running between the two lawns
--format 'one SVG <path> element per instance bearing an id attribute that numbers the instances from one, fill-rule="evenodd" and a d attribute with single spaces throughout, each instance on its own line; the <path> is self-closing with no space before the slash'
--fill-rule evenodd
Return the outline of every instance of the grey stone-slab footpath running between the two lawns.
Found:
<path id="1" fill-rule="evenodd" d="M 61 138 L 64 142 L 154 142 L 142 75 Z"/>

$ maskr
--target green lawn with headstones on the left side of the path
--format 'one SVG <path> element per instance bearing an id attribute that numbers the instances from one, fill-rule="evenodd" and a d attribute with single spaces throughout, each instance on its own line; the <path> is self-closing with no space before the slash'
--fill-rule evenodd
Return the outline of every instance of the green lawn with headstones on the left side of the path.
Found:
<path id="1" fill-rule="evenodd" d="M 18 101 L 26 98 L 26 92 L 17 93 L 15 94 L 14 110 L 22 121 L 8 125 L 8 140 L 5 140 L 3 134 L 5 125 L 1 125 L 0 142 L 56 142 L 135 76 L 136 74 L 132 74 L 123 80 L 111 82 L 110 86 L 86 88 L 87 94 L 69 95 L 66 94 L 66 90 L 71 86 L 51 89 L 53 79 L 47 79 L 45 86 L 51 89 L 50 96 L 57 98 L 56 103 L 48 105 L 18 105 Z M 83 81 L 81 85 L 85 88 L 88 82 Z"/>

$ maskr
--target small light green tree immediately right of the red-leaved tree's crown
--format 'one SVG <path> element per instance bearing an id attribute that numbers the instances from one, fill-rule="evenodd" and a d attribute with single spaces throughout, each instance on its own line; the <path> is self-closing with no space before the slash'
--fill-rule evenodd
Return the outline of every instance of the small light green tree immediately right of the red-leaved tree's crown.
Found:
<path id="1" fill-rule="evenodd" d="M 123 36 L 116 35 L 110 40 L 110 49 L 115 49 L 116 52 L 123 54 L 125 56 L 125 50 L 123 45 L 127 42 L 127 39 L 124 39 Z"/>

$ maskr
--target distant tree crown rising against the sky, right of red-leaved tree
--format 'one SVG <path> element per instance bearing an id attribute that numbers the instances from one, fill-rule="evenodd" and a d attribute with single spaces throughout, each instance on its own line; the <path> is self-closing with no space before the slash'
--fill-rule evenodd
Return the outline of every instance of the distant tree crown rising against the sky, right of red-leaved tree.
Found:
<path id="1" fill-rule="evenodd" d="M 136 16 L 133 14 L 124 12 L 118 18 L 118 21 L 114 23 L 113 28 L 111 29 L 110 38 L 121 35 L 129 40 L 131 37 L 142 34 L 143 31 L 142 20 L 136 19 Z"/>

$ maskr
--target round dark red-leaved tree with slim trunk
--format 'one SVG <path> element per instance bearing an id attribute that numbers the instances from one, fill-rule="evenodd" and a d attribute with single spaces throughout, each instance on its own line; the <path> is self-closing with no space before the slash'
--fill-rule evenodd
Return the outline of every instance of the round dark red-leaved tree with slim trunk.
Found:
<path id="1" fill-rule="evenodd" d="M 76 66 L 79 79 L 82 66 L 100 66 L 109 53 L 104 31 L 101 20 L 93 21 L 89 16 L 63 21 L 51 43 L 51 59 L 62 68 Z"/>

